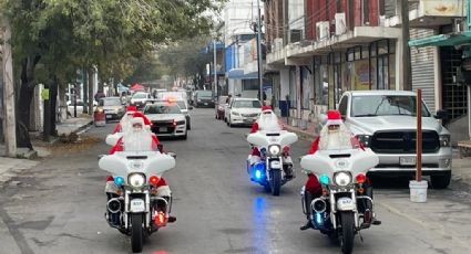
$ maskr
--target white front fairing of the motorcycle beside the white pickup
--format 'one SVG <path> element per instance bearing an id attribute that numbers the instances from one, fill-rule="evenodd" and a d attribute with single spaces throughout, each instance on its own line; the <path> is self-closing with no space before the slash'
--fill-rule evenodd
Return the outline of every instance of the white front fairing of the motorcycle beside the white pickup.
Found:
<path id="1" fill-rule="evenodd" d="M 301 158 L 300 166 L 308 173 L 327 174 L 330 179 L 337 171 L 350 171 L 354 177 L 368 172 L 379 163 L 371 149 L 318 150 Z"/>

